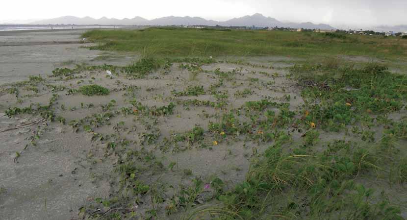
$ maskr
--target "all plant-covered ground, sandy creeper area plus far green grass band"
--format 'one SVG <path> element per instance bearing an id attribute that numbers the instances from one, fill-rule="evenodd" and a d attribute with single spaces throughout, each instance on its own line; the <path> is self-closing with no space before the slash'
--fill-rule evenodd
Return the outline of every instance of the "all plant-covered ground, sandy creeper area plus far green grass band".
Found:
<path id="1" fill-rule="evenodd" d="M 84 36 L 102 42 L 96 49 L 152 49 L 156 56 L 145 52 L 125 67 L 56 69 L 0 90 L 0 100 L 10 103 L 8 117 L 48 121 L 35 127 L 26 147 L 41 145 L 50 130 L 60 130 L 59 139 L 73 132 L 92 143 L 83 147 L 82 162 L 85 170 L 103 169 L 90 178 L 105 181 L 109 191 L 83 201 L 78 218 L 407 218 L 400 196 L 407 182 L 406 74 L 382 62 L 331 56 L 362 49 L 406 57 L 401 49 L 379 55 L 398 42 L 178 28 Z M 314 52 L 330 56 L 282 67 L 208 57 Z M 29 157 L 16 155 L 19 161 Z"/>

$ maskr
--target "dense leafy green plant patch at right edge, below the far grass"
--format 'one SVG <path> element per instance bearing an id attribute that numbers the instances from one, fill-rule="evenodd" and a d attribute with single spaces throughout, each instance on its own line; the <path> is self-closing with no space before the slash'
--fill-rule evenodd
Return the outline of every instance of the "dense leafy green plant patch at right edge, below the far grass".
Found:
<path id="1" fill-rule="evenodd" d="M 375 63 L 361 68 L 345 64 L 301 65 L 294 66 L 291 72 L 306 87 L 302 95 L 307 101 L 321 101 L 309 107 L 305 122 L 322 125 L 323 129 L 338 131 L 359 121 L 360 113 L 398 111 L 407 97 L 404 76 Z"/>

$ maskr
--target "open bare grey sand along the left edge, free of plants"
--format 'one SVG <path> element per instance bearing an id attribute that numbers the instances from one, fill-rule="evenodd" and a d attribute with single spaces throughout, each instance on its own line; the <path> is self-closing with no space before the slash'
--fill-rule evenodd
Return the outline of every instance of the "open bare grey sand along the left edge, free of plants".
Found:
<path id="1" fill-rule="evenodd" d="M 126 65 L 137 58 L 82 48 L 90 45 L 81 43 L 80 35 L 84 31 L 0 31 L 0 84 L 23 81 L 29 75 L 47 77 L 58 67 L 101 65 L 106 59 L 109 63 Z M 98 59 L 100 56 L 102 59 Z M 12 102 L 3 98 L 1 112 Z M 40 119 L 9 119 L 1 115 L 0 131 L 32 120 Z M 108 183 L 92 184 L 89 166 L 82 163 L 83 147 L 91 146 L 89 140 L 75 134 L 62 138 L 56 127 L 41 147 L 32 148 L 28 160 L 14 163 L 15 152 L 25 147 L 36 126 L 48 127 L 48 124 L 40 122 L 0 133 L 0 187 L 9 192 L 0 196 L 2 220 L 67 220 L 77 215 L 78 208 L 89 196 L 108 195 Z"/>

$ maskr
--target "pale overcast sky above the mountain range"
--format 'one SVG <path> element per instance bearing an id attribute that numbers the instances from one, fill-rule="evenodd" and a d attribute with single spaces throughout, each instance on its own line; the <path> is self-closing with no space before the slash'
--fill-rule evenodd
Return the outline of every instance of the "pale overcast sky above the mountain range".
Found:
<path id="1" fill-rule="evenodd" d="M 280 21 L 341 26 L 407 24 L 407 0 L 1 0 L 0 5 L 0 21 L 65 15 L 118 19 L 188 15 L 225 21 L 261 13 Z"/>

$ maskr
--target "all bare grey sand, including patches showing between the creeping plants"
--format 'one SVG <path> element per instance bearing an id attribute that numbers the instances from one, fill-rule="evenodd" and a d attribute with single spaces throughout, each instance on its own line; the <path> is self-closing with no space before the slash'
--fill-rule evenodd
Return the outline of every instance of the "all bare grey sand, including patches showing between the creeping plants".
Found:
<path id="1" fill-rule="evenodd" d="M 30 91 L 21 90 L 19 96 L 25 97 L 20 101 L 18 106 L 27 106 L 29 104 L 41 103 L 46 104 L 51 94 L 56 92 L 60 97 L 58 102 L 58 111 L 62 111 L 62 117 L 67 122 L 77 120 L 78 118 L 86 117 L 98 113 L 99 106 L 102 106 L 109 100 L 115 100 L 116 106 L 127 106 L 127 88 L 137 88 L 139 91 L 137 97 L 143 100 L 144 104 L 154 106 L 168 105 L 166 98 L 160 98 L 163 95 L 168 96 L 171 91 L 186 89 L 187 86 L 192 86 L 202 82 L 205 89 L 208 89 L 211 83 L 215 83 L 214 79 L 208 76 L 199 76 L 197 79 L 190 81 L 191 75 L 178 65 L 174 65 L 168 71 L 171 74 L 162 75 L 162 71 L 154 73 L 147 79 L 136 81 L 128 80 L 126 77 L 114 77 L 114 79 L 106 78 L 105 71 L 81 73 L 81 80 L 77 79 L 61 82 L 58 79 L 48 79 L 52 70 L 55 68 L 74 68 L 75 64 L 86 63 L 87 65 L 102 65 L 103 63 L 114 65 L 126 65 L 137 58 L 137 55 L 120 54 L 114 52 L 102 52 L 99 50 L 89 50 L 81 48 L 90 46 L 91 44 L 80 44 L 80 34 L 83 30 L 74 31 L 9 31 L 7 33 L 0 32 L 1 46 L 1 84 L 12 83 L 26 80 L 29 75 L 40 75 L 44 77 L 48 84 L 45 87 L 39 87 L 39 92 L 35 95 Z M 99 58 L 98 58 L 99 57 Z M 102 57 L 102 58 L 100 58 Z M 273 60 L 272 58 L 270 58 Z M 243 73 L 255 73 L 256 75 L 266 79 L 263 74 L 275 73 L 276 70 L 270 70 L 266 67 L 261 67 L 270 59 L 258 58 L 253 62 L 258 63 L 259 67 L 248 67 L 237 64 L 218 64 L 206 65 L 203 67 L 206 71 L 215 71 L 220 68 L 222 71 L 243 71 L 242 76 L 238 80 L 246 81 L 246 76 Z M 278 58 L 280 60 L 280 58 Z M 280 76 L 276 81 L 279 86 L 288 86 L 290 82 L 283 79 L 285 71 L 278 71 Z M 262 74 L 259 74 L 262 73 Z M 175 77 L 178 80 L 175 80 Z M 103 85 L 109 90 L 115 91 L 121 88 L 118 92 L 113 92 L 107 97 L 86 97 L 69 96 L 66 91 L 51 92 L 49 88 L 53 86 L 68 86 L 72 85 L 73 89 L 78 89 L 84 80 L 96 80 L 100 85 Z M 50 80 L 50 81 L 49 81 Z M 80 84 L 79 84 L 80 83 Z M 85 84 L 87 82 L 84 82 Z M 51 86 L 51 87 L 50 87 Z M 56 88 L 56 87 L 55 87 Z M 124 89 L 124 90 L 123 90 Z M 239 93 L 239 89 L 230 87 L 230 93 Z M 240 89 L 241 90 L 241 89 Z M 261 98 L 267 94 L 255 89 L 257 92 L 253 96 Z M 287 88 L 287 91 L 276 94 L 274 90 L 270 90 L 269 95 L 281 98 L 283 95 L 295 95 L 298 91 Z M 251 92 L 252 93 L 252 92 Z M 31 95 L 30 95 L 31 94 Z M 134 95 L 134 93 L 132 93 Z M 252 97 L 254 98 L 254 97 Z M 184 98 L 180 98 L 182 101 Z M 200 99 L 209 99 L 216 101 L 209 94 L 200 97 Z M 12 94 L 2 94 L 0 110 L 7 110 L 8 106 L 14 105 L 15 97 Z M 232 105 L 238 106 L 243 104 L 249 98 L 236 99 L 233 98 Z M 299 102 L 300 101 L 300 102 Z M 83 103 L 91 103 L 95 108 L 78 107 Z M 293 107 L 298 106 L 301 99 L 293 100 Z M 61 104 L 70 111 L 61 109 Z M 182 112 L 182 106 L 178 105 L 176 112 Z M 74 110 L 76 109 L 76 110 Z M 164 119 L 159 129 L 160 133 L 165 137 L 170 137 L 174 131 L 188 132 L 193 129 L 196 124 L 203 124 L 205 129 L 208 123 L 207 118 L 200 118 L 196 115 L 200 112 L 210 114 L 216 113 L 210 107 L 196 107 L 186 114 L 177 117 Z M 64 112 L 64 113 L 63 113 Z M 110 123 L 119 123 L 127 121 L 126 117 L 118 117 L 110 121 Z M 28 125 L 24 125 L 28 124 Z M 13 127 L 23 126 L 20 129 L 12 129 Z M 143 126 L 139 122 L 129 122 L 126 127 Z M 12 130 L 8 130 L 8 129 Z M 100 127 L 98 133 L 114 133 L 112 126 L 105 125 Z M 122 129 L 122 128 L 121 128 Z M 128 128 L 125 128 L 127 130 Z M 105 144 L 93 142 L 93 138 L 89 138 L 88 134 L 76 133 L 72 128 L 56 122 L 45 122 L 41 117 L 22 116 L 8 118 L 2 115 L 0 118 L 0 187 L 6 189 L 5 195 L 0 197 L 0 212 L 4 213 L 3 218 L 6 220 L 67 220 L 76 219 L 80 207 L 95 200 L 97 197 L 106 198 L 116 188 L 110 186 L 111 179 L 107 178 L 112 172 L 112 165 L 118 160 L 117 156 L 111 155 L 103 160 L 94 160 L 98 155 L 104 158 L 106 152 L 101 149 L 105 148 Z M 149 132 L 148 129 L 137 129 L 137 132 L 132 135 L 126 135 L 128 140 L 132 142 L 142 142 L 144 132 Z M 33 141 L 39 137 L 37 141 Z M 29 141 L 32 140 L 32 141 Z M 162 140 L 160 138 L 160 140 Z M 31 146 L 30 143 L 35 142 L 37 147 Z M 28 146 L 28 147 L 27 147 Z M 242 147 L 243 143 L 239 143 Z M 135 145 L 134 147 L 142 147 Z M 187 146 L 184 146 L 187 147 Z M 239 148 L 240 148 L 239 147 Z M 260 151 L 264 150 L 266 145 L 260 147 Z M 96 150 L 96 151 L 95 151 Z M 228 150 L 219 148 L 219 150 L 206 151 L 202 154 L 200 150 L 194 149 L 188 152 L 174 154 L 165 159 L 163 163 L 168 164 L 171 161 L 177 161 L 177 167 L 188 167 L 193 172 L 201 173 L 200 175 L 223 175 L 229 179 L 230 183 L 241 181 L 244 178 L 244 173 L 248 169 L 248 160 L 243 155 L 249 153 L 251 149 L 237 149 L 235 155 L 228 156 Z M 20 156 L 16 158 L 16 152 L 20 152 Z M 157 157 L 166 157 L 163 152 L 156 152 Z M 109 153 L 110 154 L 110 153 Z M 93 155 L 93 156 L 90 156 Z M 222 159 L 223 158 L 223 159 Z M 193 162 L 193 163 L 191 163 Z M 236 169 L 236 171 L 228 174 L 223 171 Z M 177 185 L 181 180 L 182 171 L 176 174 L 178 177 L 173 178 L 174 173 L 167 173 L 160 178 L 166 179 Z M 157 176 L 145 177 L 148 182 L 153 182 Z M 147 210 L 149 206 L 140 207 L 141 210 Z"/>

